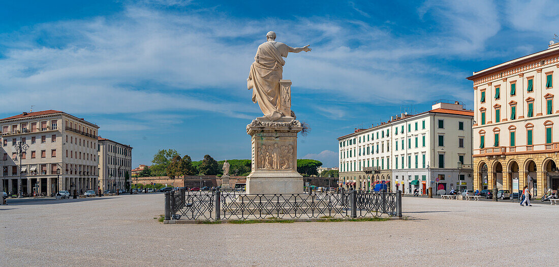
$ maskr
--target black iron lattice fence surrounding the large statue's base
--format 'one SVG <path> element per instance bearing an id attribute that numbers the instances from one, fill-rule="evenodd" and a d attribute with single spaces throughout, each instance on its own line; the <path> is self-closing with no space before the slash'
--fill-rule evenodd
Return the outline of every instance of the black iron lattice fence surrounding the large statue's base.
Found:
<path id="1" fill-rule="evenodd" d="M 401 192 L 345 191 L 246 194 L 236 191 L 165 192 L 165 220 L 313 219 L 402 216 Z"/>

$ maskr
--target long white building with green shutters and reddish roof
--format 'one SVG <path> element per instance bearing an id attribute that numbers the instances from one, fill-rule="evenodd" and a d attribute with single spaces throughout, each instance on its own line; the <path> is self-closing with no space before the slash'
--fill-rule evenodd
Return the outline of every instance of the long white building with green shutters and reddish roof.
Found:
<path id="1" fill-rule="evenodd" d="M 338 138 L 340 185 L 371 190 L 387 183 L 404 193 L 471 189 L 472 119 L 459 102 L 435 101 L 424 113 L 355 129 Z"/>

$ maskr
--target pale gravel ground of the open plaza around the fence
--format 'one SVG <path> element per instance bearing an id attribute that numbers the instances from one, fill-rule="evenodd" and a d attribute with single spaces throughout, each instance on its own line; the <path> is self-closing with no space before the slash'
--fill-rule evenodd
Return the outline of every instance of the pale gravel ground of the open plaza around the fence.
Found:
<path id="1" fill-rule="evenodd" d="M 559 266 L 559 206 L 403 197 L 383 222 L 163 225 L 162 193 L 0 206 L 0 266 Z"/>

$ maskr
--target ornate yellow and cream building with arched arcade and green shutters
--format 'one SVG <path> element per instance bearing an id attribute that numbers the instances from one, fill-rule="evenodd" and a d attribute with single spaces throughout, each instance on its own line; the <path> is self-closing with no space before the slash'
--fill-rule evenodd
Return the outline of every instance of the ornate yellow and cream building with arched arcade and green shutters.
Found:
<path id="1" fill-rule="evenodd" d="M 476 189 L 533 195 L 559 190 L 559 44 L 467 77 L 473 81 L 473 164 Z M 558 104 L 555 104 L 558 103 Z"/>

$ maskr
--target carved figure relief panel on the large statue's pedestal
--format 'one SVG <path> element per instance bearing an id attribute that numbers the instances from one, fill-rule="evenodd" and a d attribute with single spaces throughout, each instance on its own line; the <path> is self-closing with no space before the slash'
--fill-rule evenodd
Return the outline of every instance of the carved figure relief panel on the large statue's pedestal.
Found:
<path id="1" fill-rule="evenodd" d="M 292 169 L 293 145 L 262 145 L 258 149 L 259 169 Z"/>

